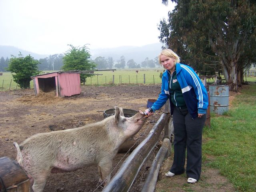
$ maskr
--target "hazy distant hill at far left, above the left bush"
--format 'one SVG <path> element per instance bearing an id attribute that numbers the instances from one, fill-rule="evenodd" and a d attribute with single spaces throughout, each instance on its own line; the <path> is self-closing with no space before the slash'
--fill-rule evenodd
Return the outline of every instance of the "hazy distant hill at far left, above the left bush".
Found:
<path id="1" fill-rule="evenodd" d="M 9 59 L 11 58 L 11 55 L 14 55 L 16 57 L 18 57 L 18 54 L 21 54 L 23 56 L 27 56 L 27 55 L 31 55 L 32 57 L 34 57 L 34 59 L 41 59 L 41 58 L 46 58 L 48 57 L 48 55 L 40 55 L 37 53 L 33 53 L 30 51 L 25 51 L 19 48 L 16 48 L 14 46 L 5 46 L 5 45 L 0 45 L 0 58 L 4 57 L 4 59 L 6 59 L 6 57 L 8 57 Z"/>

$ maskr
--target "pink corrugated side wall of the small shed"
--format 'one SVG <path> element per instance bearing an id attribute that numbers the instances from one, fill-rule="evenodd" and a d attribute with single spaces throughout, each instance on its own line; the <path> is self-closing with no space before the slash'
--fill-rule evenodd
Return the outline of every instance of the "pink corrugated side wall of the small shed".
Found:
<path id="1" fill-rule="evenodd" d="M 81 93 L 79 73 L 59 73 L 58 84 L 61 96 L 72 96 Z"/>

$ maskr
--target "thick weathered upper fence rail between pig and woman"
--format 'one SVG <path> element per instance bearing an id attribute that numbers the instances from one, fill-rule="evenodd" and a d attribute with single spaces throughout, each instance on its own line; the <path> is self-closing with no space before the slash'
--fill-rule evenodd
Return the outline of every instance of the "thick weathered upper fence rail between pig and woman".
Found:
<path id="1" fill-rule="evenodd" d="M 158 143 L 160 134 L 167 123 L 169 114 L 162 114 L 148 136 L 126 158 L 118 172 L 102 192 L 127 192 L 134 182 L 140 168 L 150 152 Z"/>

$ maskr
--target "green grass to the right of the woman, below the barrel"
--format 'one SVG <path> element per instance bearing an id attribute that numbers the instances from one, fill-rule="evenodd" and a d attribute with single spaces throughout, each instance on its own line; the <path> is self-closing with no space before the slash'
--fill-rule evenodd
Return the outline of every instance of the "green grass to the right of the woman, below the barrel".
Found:
<path id="1" fill-rule="evenodd" d="M 256 84 L 249 87 L 225 115 L 211 114 L 211 128 L 203 134 L 203 159 L 213 157 L 207 166 L 219 169 L 239 192 L 256 191 Z"/>

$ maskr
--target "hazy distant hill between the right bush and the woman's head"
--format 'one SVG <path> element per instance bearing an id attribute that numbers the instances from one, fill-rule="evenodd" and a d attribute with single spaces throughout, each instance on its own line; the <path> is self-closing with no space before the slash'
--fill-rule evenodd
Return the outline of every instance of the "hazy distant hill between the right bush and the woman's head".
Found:
<path id="1" fill-rule="evenodd" d="M 114 61 L 120 60 L 121 56 L 125 57 L 126 62 L 133 59 L 137 64 L 143 62 L 147 57 L 154 59 L 162 50 L 161 43 L 149 44 L 145 46 L 122 46 L 117 48 L 94 49 L 90 50 L 92 59 L 98 56 L 105 58 L 112 57 Z"/>

